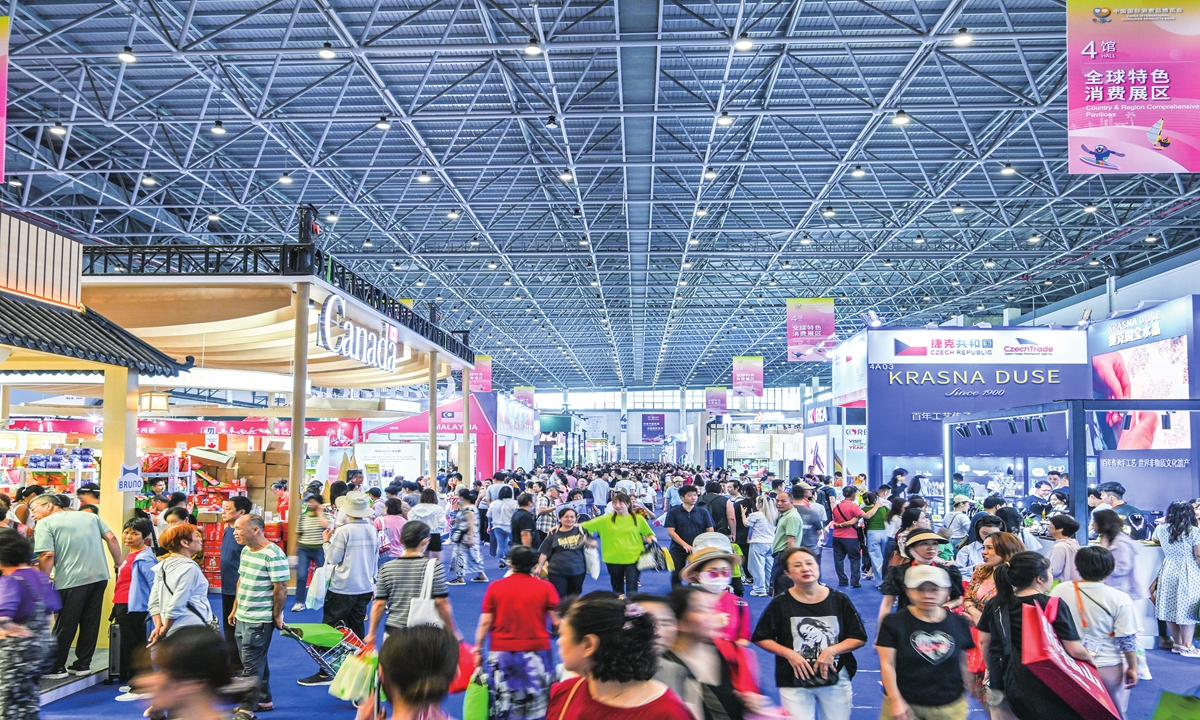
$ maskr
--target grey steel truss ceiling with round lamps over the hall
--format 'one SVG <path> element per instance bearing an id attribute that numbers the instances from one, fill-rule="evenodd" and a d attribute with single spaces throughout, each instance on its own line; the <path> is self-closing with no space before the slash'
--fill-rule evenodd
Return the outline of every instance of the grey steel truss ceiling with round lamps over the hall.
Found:
<path id="1" fill-rule="evenodd" d="M 793 384 L 821 367 L 785 362 L 787 296 L 835 296 L 844 336 L 868 310 L 1028 311 L 1200 224 L 1194 176 L 1067 174 L 1055 0 L 10 13 L 6 205 L 97 242 L 252 244 L 312 203 L 330 251 L 472 329 L 503 388 L 701 386 L 742 353 Z"/>

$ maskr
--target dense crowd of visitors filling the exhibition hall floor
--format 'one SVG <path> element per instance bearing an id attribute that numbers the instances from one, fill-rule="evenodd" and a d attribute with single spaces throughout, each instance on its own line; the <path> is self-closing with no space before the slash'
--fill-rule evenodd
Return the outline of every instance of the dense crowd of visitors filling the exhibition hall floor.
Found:
<path id="1" fill-rule="evenodd" d="M 1147 671 L 1136 601 L 1154 602 L 1174 653 L 1200 656 L 1196 503 L 1172 503 L 1145 533 L 1165 560 L 1142 587 L 1129 520 L 1140 511 L 1120 486 L 1102 486 L 1088 523 L 1096 542 L 1081 547 L 1080 522 L 1055 511 L 1054 486 L 1036 487 L 1020 508 L 956 494 L 935 523 L 920 479 L 906 478 L 898 470 L 866 492 L 865 478 L 786 482 L 628 463 L 467 484 L 450 468 L 373 493 L 348 478 L 331 484 L 328 503 L 311 486 L 293 517 L 293 610 L 306 605 L 322 569 L 323 623 L 379 648 L 395 718 L 439 716 L 460 640 L 474 643 L 491 716 L 532 720 L 772 716 L 751 646 L 774 655 L 779 712 L 846 720 L 864 690 L 854 653 L 868 642 L 880 659 L 884 719 L 965 719 L 972 698 L 992 720 L 1080 718 L 1021 661 L 1028 606 L 1052 618 L 1063 650 L 1094 667 L 1122 714 Z M 1031 508 L 1045 540 L 1027 527 Z M 13 716 L 36 716 L 40 677 L 90 666 L 109 559 L 118 700 L 145 701 L 150 718 L 206 718 L 233 706 L 236 720 L 254 720 L 275 709 L 268 656 L 286 628 L 290 569 L 247 498 L 222 509 L 220 608 L 194 559 L 204 538 L 186 514 L 172 523 L 130 520 L 118 544 L 98 516 L 40 488 L 26 488 L 16 506 L 0 500 L 0 707 L 24 712 Z M 838 588 L 870 580 L 880 589 L 874 638 L 851 596 L 822 582 L 824 547 L 833 547 Z M 488 563 L 500 570 L 494 580 Z M 611 592 L 583 594 L 601 563 Z M 671 592 L 642 593 L 642 570 L 664 565 Z M 473 635 L 456 628 L 451 605 L 454 586 L 467 582 L 487 583 Z M 760 617 L 745 592 L 772 598 Z M 52 634 L 56 644 L 34 641 Z M 14 653 L 29 661 L 14 662 Z M 318 667 L 299 683 L 331 680 Z M 378 704 L 362 703 L 360 718 L 374 718 Z"/>

